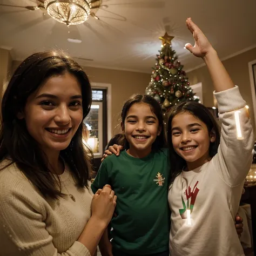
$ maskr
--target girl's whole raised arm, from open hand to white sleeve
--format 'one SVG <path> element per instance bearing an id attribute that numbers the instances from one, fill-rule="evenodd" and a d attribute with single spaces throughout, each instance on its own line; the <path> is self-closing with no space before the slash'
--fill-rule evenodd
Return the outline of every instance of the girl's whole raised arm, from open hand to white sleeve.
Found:
<path id="1" fill-rule="evenodd" d="M 246 102 L 203 32 L 191 18 L 187 19 L 186 24 L 193 34 L 195 45 L 185 46 L 193 55 L 204 59 L 213 80 L 214 95 L 218 102 L 221 137 L 218 154 L 212 159 L 212 163 L 228 185 L 237 186 L 244 182 L 250 169 L 254 146 L 251 120 L 245 108 Z"/>

